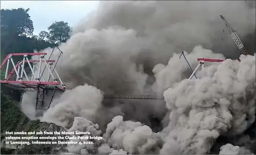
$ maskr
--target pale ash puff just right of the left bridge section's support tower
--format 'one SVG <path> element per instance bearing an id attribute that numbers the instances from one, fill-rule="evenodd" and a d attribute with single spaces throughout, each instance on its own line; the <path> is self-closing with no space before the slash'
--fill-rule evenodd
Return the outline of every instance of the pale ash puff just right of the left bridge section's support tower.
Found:
<path id="1" fill-rule="evenodd" d="M 102 92 L 87 84 L 77 86 L 74 89 L 66 90 L 59 103 L 50 108 L 41 119 L 46 122 L 53 122 L 69 129 L 74 117 L 80 116 L 95 121 L 96 111 L 101 107 L 103 99 Z"/>

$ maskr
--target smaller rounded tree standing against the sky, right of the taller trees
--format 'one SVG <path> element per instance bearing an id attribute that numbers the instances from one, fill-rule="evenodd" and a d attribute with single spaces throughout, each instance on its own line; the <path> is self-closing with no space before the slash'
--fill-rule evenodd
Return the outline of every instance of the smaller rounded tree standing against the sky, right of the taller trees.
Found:
<path id="1" fill-rule="evenodd" d="M 58 44 L 64 43 L 70 37 L 70 26 L 67 22 L 53 22 L 49 27 L 48 39 L 50 43 Z"/>

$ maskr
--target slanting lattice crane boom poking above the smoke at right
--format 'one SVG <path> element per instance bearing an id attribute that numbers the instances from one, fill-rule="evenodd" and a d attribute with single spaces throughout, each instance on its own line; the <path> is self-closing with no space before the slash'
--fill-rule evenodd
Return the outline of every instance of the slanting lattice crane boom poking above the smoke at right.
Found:
<path id="1" fill-rule="evenodd" d="M 238 33 L 235 31 L 235 29 L 227 22 L 227 20 L 225 19 L 224 16 L 220 15 L 221 19 L 224 21 L 224 23 L 226 24 L 230 35 L 232 36 L 233 41 L 235 42 L 235 44 L 237 45 L 237 47 L 239 48 L 240 52 L 243 55 L 248 55 L 248 52 L 246 51 L 244 44 L 242 43 L 242 41 L 240 40 Z"/>

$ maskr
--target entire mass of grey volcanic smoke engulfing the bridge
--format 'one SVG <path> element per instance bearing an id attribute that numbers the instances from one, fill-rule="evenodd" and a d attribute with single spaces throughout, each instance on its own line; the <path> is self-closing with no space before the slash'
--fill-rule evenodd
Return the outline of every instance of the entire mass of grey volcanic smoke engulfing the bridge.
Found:
<path id="1" fill-rule="evenodd" d="M 205 63 L 198 79 L 191 80 L 192 71 L 179 56 L 186 51 L 193 69 L 198 57 L 238 59 L 219 15 L 248 38 L 255 32 L 251 6 L 244 1 L 102 1 L 59 46 L 63 56 L 56 68 L 69 90 L 42 120 L 69 130 L 86 131 L 86 124 L 97 128 L 104 140 L 68 146 L 76 154 L 206 154 L 219 137 L 244 134 L 255 122 L 255 56 Z M 244 42 L 254 54 L 255 38 Z M 51 51 L 40 52 L 49 53 L 48 59 Z M 51 59 L 57 57 L 53 53 Z M 154 94 L 164 100 L 107 100 L 104 94 Z"/>

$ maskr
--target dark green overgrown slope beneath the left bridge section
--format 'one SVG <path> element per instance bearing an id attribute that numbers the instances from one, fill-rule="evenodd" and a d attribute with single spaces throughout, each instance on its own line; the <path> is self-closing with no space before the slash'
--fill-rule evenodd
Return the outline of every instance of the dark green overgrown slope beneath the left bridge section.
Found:
<path id="1" fill-rule="evenodd" d="M 5 132 L 33 132 L 33 131 L 64 131 L 60 126 L 57 126 L 53 123 L 48 122 L 40 122 L 39 120 L 29 120 L 24 113 L 20 110 L 19 103 L 12 99 L 11 96 L 4 95 L 1 92 L 1 154 L 19 154 L 19 155 L 27 155 L 27 154 L 54 154 L 60 151 L 60 149 L 64 150 L 64 145 L 54 145 L 54 144 L 31 144 L 29 146 L 24 147 L 24 149 L 6 149 L 5 144 Z M 21 135 L 26 136 L 26 135 Z M 33 135 L 39 136 L 39 135 Z M 50 135 L 55 136 L 55 135 Z"/>

